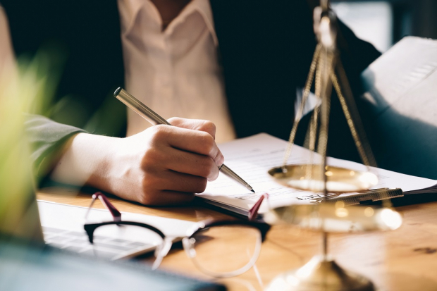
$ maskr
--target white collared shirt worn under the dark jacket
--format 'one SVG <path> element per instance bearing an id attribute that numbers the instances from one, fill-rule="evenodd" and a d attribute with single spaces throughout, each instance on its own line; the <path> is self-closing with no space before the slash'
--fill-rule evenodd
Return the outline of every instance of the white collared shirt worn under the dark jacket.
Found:
<path id="1" fill-rule="evenodd" d="M 162 31 L 149 0 L 118 0 L 125 87 L 164 118 L 211 120 L 216 141 L 235 138 L 209 0 L 192 0 Z M 128 135 L 150 125 L 128 111 Z"/>

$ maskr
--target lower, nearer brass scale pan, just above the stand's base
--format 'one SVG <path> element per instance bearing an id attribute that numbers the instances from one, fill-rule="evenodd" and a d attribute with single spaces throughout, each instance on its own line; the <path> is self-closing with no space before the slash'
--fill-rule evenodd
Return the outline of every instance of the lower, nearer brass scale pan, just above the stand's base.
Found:
<path id="1" fill-rule="evenodd" d="M 336 202 L 278 207 L 265 213 L 264 221 L 269 224 L 287 223 L 327 233 L 361 233 L 395 230 L 402 225 L 402 216 L 389 208 L 345 207 L 343 202 Z"/>

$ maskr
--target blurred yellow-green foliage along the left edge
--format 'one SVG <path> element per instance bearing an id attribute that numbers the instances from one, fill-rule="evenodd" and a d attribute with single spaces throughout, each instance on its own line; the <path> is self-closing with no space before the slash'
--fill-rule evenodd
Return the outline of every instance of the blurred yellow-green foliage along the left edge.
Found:
<path id="1" fill-rule="evenodd" d="M 41 51 L 0 72 L 1 233 L 30 238 L 40 228 L 24 122 L 25 113 L 50 110 L 59 73 L 51 63 L 49 52 Z"/>

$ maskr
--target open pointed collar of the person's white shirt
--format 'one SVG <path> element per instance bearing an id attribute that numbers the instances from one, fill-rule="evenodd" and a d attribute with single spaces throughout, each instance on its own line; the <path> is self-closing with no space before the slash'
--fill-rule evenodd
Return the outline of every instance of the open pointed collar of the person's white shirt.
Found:
<path id="1" fill-rule="evenodd" d="M 125 13 L 126 13 L 125 17 L 128 18 L 127 26 L 125 30 L 125 34 L 128 35 L 130 31 L 133 30 L 133 26 L 135 25 L 135 20 L 137 19 L 141 9 L 144 8 L 145 1 L 149 1 L 149 0 L 121 0 L 121 1 L 124 2 L 123 6 L 125 6 Z M 150 2 L 150 4 L 152 3 Z M 214 28 L 214 18 L 212 16 L 211 4 L 209 3 L 209 0 L 190 1 L 190 3 L 187 4 L 185 8 L 183 8 L 183 11 L 180 12 L 180 14 L 176 17 L 175 20 L 178 20 L 178 18 L 185 18 L 186 16 L 190 15 L 193 11 L 197 11 L 198 13 L 200 13 L 200 15 L 205 21 L 205 24 L 208 27 L 209 32 L 211 33 L 214 44 L 218 46 L 219 40 L 217 39 L 216 30 Z M 173 20 L 173 22 L 175 20 Z M 169 27 L 167 27 L 167 29 L 168 28 L 171 28 L 170 25 Z"/>

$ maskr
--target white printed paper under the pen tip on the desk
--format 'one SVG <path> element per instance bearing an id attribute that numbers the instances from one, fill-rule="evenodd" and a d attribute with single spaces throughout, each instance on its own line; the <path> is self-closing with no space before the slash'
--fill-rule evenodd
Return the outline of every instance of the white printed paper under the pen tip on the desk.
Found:
<path id="1" fill-rule="evenodd" d="M 269 202 L 264 200 L 259 213 L 269 208 L 276 208 L 290 204 L 308 204 L 310 199 L 321 197 L 321 194 L 295 190 L 274 182 L 267 171 L 281 166 L 288 142 L 272 137 L 265 133 L 220 144 L 226 166 L 238 173 L 248 182 L 256 193 L 242 187 L 226 175 L 219 175 L 214 182 L 209 182 L 207 189 L 197 196 L 206 202 L 220 206 L 242 215 L 247 215 L 261 194 L 269 193 Z M 288 164 L 318 162 L 317 156 L 308 149 L 293 145 Z M 359 163 L 340 159 L 328 158 L 328 165 L 366 171 L 366 167 Z M 403 175 L 379 168 L 371 168 L 378 176 L 379 183 L 374 188 L 401 188 L 404 191 L 417 190 L 437 184 L 436 180 Z M 268 205 L 269 204 L 269 205 Z"/>

